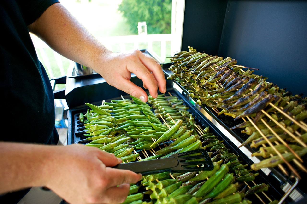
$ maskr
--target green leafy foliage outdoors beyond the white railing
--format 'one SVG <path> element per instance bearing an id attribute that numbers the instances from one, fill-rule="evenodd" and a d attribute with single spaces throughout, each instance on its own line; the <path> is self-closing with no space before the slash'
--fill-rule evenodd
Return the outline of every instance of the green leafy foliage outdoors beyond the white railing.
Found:
<path id="1" fill-rule="evenodd" d="M 122 0 L 118 10 L 135 34 L 138 21 L 146 21 L 147 34 L 171 32 L 172 0 Z"/>

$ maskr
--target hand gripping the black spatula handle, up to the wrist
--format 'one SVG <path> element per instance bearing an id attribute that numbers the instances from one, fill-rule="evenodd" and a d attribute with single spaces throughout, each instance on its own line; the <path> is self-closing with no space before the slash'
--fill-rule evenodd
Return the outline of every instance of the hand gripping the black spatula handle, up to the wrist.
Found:
<path id="1" fill-rule="evenodd" d="M 48 161 L 54 166 L 49 167 L 52 172 L 46 169 L 51 175 L 46 187 L 68 203 L 121 203 L 130 183 L 142 178 L 129 170 L 111 168 L 120 159 L 98 148 L 73 144 L 56 149 L 56 161 Z"/>

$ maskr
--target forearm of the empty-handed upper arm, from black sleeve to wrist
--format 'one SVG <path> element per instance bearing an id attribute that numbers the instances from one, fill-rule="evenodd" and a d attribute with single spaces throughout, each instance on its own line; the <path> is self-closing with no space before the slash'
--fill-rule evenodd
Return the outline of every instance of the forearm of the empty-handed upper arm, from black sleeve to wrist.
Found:
<path id="1" fill-rule="evenodd" d="M 88 67 L 97 67 L 100 56 L 111 53 L 60 3 L 28 27 L 59 54 Z"/>

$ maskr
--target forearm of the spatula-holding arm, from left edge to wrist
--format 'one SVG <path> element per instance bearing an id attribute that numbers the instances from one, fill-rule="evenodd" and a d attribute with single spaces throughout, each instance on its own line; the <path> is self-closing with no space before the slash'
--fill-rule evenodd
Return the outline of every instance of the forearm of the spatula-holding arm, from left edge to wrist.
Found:
<path id="1" fill-rule="evenodd" d="M 0 194 L 47 183 L 43 175 L 51 150 L 47 145 L 0 142 Z"/>

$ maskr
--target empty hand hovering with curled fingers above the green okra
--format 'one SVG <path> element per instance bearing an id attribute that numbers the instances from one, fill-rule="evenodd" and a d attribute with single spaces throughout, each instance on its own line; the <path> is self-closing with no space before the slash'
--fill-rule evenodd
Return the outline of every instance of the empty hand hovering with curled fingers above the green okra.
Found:
<path id="1" fill-rule="evenodd" d="M 134 73 L 143 81 L 145 89 L 154 98 L 157 97 L 157 89 L 161 93 L 166 92 L 166 81 L 159 63 L 152 57 L 139 50 L 107 53 L 101 56 L 101 66 L 97 72 L 107 81 L 108 84 L 120 89 L 134 97 L 146 102 L 146 92 L 130 81 L 131 73 Z"/>

